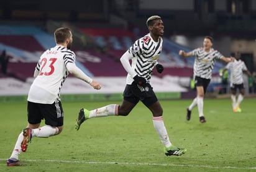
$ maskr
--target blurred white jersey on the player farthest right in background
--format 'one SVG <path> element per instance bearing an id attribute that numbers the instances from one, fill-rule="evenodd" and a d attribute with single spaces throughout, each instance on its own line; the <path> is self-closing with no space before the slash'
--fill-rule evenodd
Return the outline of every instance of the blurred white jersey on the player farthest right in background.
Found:
<path id="1" fill-rule="evenodd" d="M 234 60 L 232 62 L 227 63 L 225 68 L 231 71 L 231 85 L 244 83 L 243 71 L 247 71 L 247 67 L 245 66 L 244 61 Z"/>

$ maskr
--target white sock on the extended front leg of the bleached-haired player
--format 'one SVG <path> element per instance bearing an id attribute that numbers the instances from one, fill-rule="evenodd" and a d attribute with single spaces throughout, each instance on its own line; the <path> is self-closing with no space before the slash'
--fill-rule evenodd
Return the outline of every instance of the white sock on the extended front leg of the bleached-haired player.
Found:
<path id="1" fill-rule="evenodd" d="M 169 140 L 167 130 L 165 129 L 165 124 L 163 124 L 163 116 L 153 117 L 153 126 L 155 127 L 155 130 L 157 130 L 157 134 L 159 135 L 163 145 L 165 145 L 165 147 L 170 147 L 171 142 Z"/>

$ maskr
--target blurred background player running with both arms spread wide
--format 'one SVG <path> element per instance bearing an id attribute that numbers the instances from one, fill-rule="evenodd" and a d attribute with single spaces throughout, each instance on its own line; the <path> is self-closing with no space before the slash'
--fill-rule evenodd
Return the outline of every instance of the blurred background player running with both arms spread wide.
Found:
<path id="1" fill-rule="evenodd" d="M 216 59 L 221 59 L 226 62 L 234 61 L 234 57 L 224 57 L 221 53 L 219 53 L 217 50 L 214 50 L 212 47 L 213 38 L 206 36 L 204 37 L 203 47 L 196 48 L 188 53 L 184 52 L 184 50 L 180 50 L 179 52 L 179 55 L 183 57 L 195 56 L 193 76 L 197 95 L 190 106 L 186 108 L 186 120 L 190 120 L 192 109 L 198 105 L 199 122 L 206 122 L 203 114 L 203 99 L 211 81 L 214 63 Z"/>

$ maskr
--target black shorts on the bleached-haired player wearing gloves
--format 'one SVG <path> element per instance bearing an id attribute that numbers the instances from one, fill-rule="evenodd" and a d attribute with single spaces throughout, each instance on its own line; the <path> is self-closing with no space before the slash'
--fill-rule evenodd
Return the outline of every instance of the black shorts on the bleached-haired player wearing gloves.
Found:
<path id="1" fill-rule="evenodd" d="M 147 107 L 158 101 L 157 96 L 155 96 L 153 88 L 149 83 L 146 83 L 143 86 L 135 83 L 127 84 L 122 95 L 126 101 L 134 104 L 142 101 Z"/>

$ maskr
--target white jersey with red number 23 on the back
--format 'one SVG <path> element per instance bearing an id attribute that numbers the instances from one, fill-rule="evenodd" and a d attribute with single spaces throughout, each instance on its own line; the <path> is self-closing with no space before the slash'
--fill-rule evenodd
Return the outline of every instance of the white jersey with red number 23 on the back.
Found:
<path id="1" fill-rule="evenodd" d="M 52 104 L 60 99 L 60 89 L 69 74 L 67 63 L 75 63 L 75 53 L 63 46 L 56 45 L 43 52 L 35 67 L 39 75 L 30 86 L 27 100 Z"/>

